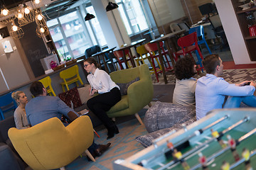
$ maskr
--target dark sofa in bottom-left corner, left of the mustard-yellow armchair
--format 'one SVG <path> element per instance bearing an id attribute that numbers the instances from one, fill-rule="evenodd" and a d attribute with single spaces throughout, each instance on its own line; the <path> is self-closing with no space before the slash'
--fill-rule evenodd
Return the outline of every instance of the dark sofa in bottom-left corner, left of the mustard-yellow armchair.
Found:
<path id="1" fill-rule="evenodd" d="M 19 157 L 8 137 L 9 128 L 15 127 L 14 116 L 0 121 L 0 167 L 4 170 L 26 168 L 26 163 Z"/>

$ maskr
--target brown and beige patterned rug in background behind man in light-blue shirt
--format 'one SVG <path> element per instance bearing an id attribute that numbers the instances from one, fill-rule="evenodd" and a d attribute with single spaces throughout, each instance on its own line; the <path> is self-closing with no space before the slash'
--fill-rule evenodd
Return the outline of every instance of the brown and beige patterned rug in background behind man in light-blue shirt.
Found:
<path id="1" fill-rule="evenodd" d="M 206 72 L 195 75 L 195 78 L 200 78 L 206 75 Z M 154 74 L 151 75 L 153 84 L 164 84 L 164 77 L 159 74 L 159 82 L 157 82 Z M 168 84 L 175 84 L 175 75 L 173 72 L 166 72 Z M 256 80 L 256 69 L 225 69 L 223 70 L 223 76 L 225 81 L 230 84 L 237 84 L 242 81 L 255 81 Z"/>

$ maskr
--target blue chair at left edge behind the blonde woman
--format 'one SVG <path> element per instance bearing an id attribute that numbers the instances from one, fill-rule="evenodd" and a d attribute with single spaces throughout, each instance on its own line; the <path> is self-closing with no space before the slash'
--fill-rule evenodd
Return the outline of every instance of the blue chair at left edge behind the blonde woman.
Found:
<path id="1" fill-rule="evenodd" d="M 3 96 L 0 96 L 0 114 L 1 114 L 1 120 L 4 120 L 4 113 L 7 111 L 11 111 L 12 109 L 16 109 L 18 106 L 16 104 L 16 101 L 14 101 L 13 98 L 11 98 L 11 93 L 4 94 Z"/>

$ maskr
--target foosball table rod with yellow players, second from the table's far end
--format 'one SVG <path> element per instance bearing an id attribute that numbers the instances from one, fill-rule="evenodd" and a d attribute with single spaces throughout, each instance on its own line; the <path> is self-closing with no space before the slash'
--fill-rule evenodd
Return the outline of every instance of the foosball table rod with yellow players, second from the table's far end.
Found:
<path id="1" fill-rule="evenodd" d="M 226 132 L 233 130 L 234 128 L 237 128 L 239 125 L 241 125 L 242 123 L 247 122 L 247 120 L 249 120 L 249 118 L 246 116 L 245 118 L 243 118 L 242 120 L 239 120 L 237 123 L 235 123 L 234 125 L 231 125 L 230 127 L 228 127 L 227 129 L 223 130 L 222 132 L 220 132 L 221 135 L 224 135 Z M 198 145 L 197 147 L 194 147 L 193 149 L 189 150 L 188 152 L 186 152 L 185 154 L 183 154 L 182 159 L 186 160 L 186 157 L 188 157 L 191 154 L 194 154 L 195 152 L 197 152 L 199 149 L 205 147 L 206 145 L 208 145 L 210 142 L 213 142 L 213 140 L 215 140 L 215 137 L 212 137 L 210 140 L 207 140 L 206 142 L 203 142 L 201 145 Z M 157 169 L 157 170 L 162 170 L 162 169 L 166 169 L 166 167 L 171 166 L 172 164 L 175 164 L 178 162 L 175 161 L 171 161 L 168 164 L 162 166 L 161 168 Z M 200 164 L 199 164 L 200 165 Z"/>

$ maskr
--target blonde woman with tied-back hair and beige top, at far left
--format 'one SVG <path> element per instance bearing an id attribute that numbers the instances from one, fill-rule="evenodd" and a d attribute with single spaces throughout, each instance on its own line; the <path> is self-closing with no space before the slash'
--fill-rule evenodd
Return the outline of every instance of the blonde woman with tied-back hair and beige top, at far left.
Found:
<path id="1" fill-rule="evenodd" d="M 14 122 L 16 128 L 19 130 L 30 128 L 31 125 L 28 124 L 25 111 L 26 103 L 28 103 L 28 98 L 26 94 L 24 94 L 23 91 L 16 91 L 11 94 L 11 97 L 14 98 L 14 100 L 18 104 L 18 108 L 16 108 L 16 110 L 14 111 Z"/>

